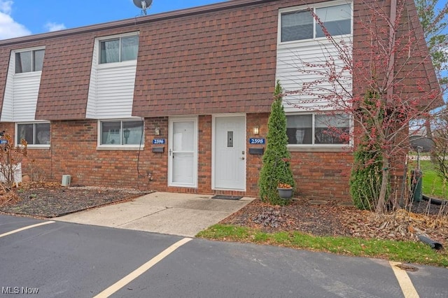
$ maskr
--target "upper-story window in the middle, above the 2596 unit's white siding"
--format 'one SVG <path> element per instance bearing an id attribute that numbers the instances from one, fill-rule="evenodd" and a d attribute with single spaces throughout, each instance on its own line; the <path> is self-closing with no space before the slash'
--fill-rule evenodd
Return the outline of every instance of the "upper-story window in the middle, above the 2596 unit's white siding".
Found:
<path id="1" fill-rule="evenodd" d="M 139 36 L 123 36 L 99 41 L 99 63 L 137 60 Z"/>

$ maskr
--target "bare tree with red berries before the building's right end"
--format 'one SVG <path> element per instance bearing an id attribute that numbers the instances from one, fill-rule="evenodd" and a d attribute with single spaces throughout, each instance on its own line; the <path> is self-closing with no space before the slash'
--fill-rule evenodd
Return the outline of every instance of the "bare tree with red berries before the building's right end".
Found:
<path id="1" fill-rule="evenodd" d="M 398 208 L 400 187 L 388 189 L 403 176 L 409 123 L 430 118 L 442 103 L 414 2 L 354 1 L 351 40 L 332 36 L 319 15 L 309 11 L 326 37 L 321 41 L 324 58 L 297 54 L 301 87 L 288 90 L 283 99 L 298 110 L 351 115 L 350 132 L 334 127 L 328 133 L 350 137 L 353 148 L 374 152 L 370 162 L 379 162 L 382 171 L 374 208 L 377 213 L 385 213 L 389 203 Z M 367 92 L 374 94 L 368 102 Z"/>

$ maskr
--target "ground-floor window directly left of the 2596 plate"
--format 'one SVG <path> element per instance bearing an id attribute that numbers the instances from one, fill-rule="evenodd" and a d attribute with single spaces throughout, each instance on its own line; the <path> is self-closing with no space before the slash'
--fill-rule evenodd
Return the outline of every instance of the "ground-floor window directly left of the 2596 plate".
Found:
<path id="1" fill-rule="evenodd" d="M 100 145 L 140 145 L 143 144 L 141 120 L 102 121 Z"/>

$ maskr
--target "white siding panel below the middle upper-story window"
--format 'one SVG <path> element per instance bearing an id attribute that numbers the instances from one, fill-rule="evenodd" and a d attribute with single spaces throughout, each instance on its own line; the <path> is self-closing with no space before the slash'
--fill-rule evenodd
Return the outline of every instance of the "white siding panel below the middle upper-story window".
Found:
<path id="1" fill-rule="evenodd" d="M 87 118 L 130 118 L 137 60 L 99 64 L 99 42 L 94 44 Z"/>

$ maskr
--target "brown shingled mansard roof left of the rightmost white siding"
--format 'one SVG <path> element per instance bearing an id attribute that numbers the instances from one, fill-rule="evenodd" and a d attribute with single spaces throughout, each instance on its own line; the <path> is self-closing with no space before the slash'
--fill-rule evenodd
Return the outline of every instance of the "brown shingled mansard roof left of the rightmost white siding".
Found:
<path id="1" fill-rule="evenodd" d="M 135 31 L 132 115 L 269 112 L 279 8 L 316 2 L 324 1 L 234 0 L 0 41 L 0 112 L 10 51 L 45 46 L 36 119 L 84 119 L 95 38 Z M 361 3 L 354 1 L 355 12 Z M 437 87 L 430 62 L 421 71 Z"/>

